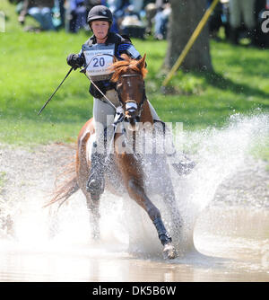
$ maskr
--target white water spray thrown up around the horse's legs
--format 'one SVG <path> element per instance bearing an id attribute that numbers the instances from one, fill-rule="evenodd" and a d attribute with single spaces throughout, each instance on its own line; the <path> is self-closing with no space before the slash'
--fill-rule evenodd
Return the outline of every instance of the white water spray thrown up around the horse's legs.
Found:
<path id="1" fill-rule="evenodd" d="M 197 217 L 213 201 L 221 182 L 244 165 L 251 148 L 256 144 L 263 146 L 268 140 L 268 128 L 268 114 L 236 114 L 230 117 L 225 128 L 184 133 L 185 148 L 192 154 L 197 165 L 193 172 L 181 179 L 170 169 L 178 208 L 185 222 L 183 233 L 179 235 L 173 232 L 168 206 L 160 197 L 152 197 L 152 201 L 161 209 L 170 234 L 183 250 L 194 249 L 193 236 Z M 53 188 L 51 183 L 49 187 Z M 41 209 L 45 194 L 37 190 L 39 187 L 31 186 L 27 193 L 24 191 L 20 197 L 12 199 L 8 211 L 13 217 L 16 240 L 29 247 L 45 247 L 49 243 L 49 214 L 48 210 Z M 96 246 L 91 241 L 85 199 L 81 192 L 77 193 L 70 199 L 69 205 L 59 211 L 59 227 L 54 246 L 55 243 L 65 244 L 66 247 L 83 245 L 87 251 L 90 247 L 98 253 L 101 249 L 106 252 L 128 250 L 136 254 L 143 253 L 146 257 L 160 257 L 161 243 L 152 222 L 133 200 L 105 193 L 101 200 L 100 214 L 101 242 Z"/>

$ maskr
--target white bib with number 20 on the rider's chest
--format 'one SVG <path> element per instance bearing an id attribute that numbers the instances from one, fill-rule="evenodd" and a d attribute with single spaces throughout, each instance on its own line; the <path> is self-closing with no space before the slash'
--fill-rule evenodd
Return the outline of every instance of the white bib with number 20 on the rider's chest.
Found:
<path id="1" fill-rule="evenodd" d="M 96 45 L 83 50 L 87 66 L 86 74 L 93 80 L 108 79 L 111 74 L 108 67 L 113 64 L 114 52 L 114 45 Z"/>

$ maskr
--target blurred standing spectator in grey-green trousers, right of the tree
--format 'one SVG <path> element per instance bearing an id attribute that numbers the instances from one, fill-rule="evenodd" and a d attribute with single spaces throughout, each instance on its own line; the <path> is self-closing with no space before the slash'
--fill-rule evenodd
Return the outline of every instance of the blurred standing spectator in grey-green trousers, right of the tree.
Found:
<path id="1" fill-rule="evenodd" d="M 239 30 L 242 23 L 247 28 L 247 37 L 254 43 L 256 31 L 255 3 L 256 0 L 230 0 L 230 41 L 232 43 L 239 43 Z"/>

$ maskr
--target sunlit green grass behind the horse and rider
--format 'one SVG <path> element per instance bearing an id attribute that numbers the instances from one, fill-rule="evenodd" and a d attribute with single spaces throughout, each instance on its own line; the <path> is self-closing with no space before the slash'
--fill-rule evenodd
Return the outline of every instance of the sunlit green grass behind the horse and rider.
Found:
<path id="1" fill-rule="evenodd" d="M 92 112 L 84 75 L 73 72 L 42 114 L 37 112 L 68 72 L 65 57 L 78 52 L 89 33 L 24 32 L 13 5 L 1 0 L 0 10 L 7 17 L 6 32 L 0 33 L 0 142 L 73 141 Z M 147 53 L 147 96 L 164 121 L 183 122 L 185 129 L 195 130 L 224 126 L 234 113 L 268 111 L 268 50 L 211 41 L 215 73 L 178 71 L 169 83 L 173 94 L 164 95 L 166 41 L 133 42 L 141 54 Z"/>

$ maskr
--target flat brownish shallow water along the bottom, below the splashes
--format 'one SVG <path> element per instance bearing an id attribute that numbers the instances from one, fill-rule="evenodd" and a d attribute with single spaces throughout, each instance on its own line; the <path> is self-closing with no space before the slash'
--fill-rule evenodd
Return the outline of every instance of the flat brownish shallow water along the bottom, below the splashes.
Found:
<path id="1" fill-rule="evenodd" d="M 0 281 L 269 281 L 268 216 L 210 208 L 195 225 L 198 251 L 176 260 L 132 255 L 108 241 L 2 240 Z"/>

